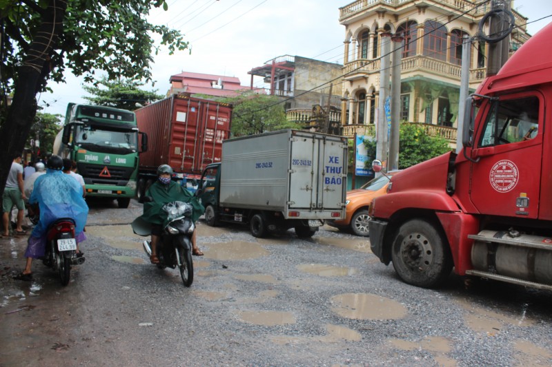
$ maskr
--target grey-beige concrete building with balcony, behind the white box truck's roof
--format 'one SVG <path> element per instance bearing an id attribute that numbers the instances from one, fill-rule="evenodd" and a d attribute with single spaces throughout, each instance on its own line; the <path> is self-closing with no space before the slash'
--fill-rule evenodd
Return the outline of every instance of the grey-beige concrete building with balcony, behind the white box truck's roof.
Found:
<path id="1" fill-rule="evenodd" d="M 308 127 L 311 122 L 316 124 L 320 111 L 326 113 L 328 96 L 329 117 L 335 119 L 336 125 L 339 123 L 342 69 L 343 65 L 337 63 L 284 55 L 254 67 L 248 74 L 250 87 L 253 88 L 253 76 L 262 76 L 264 83 L 270 85 L 268 94 L 285 101 L 288 120 Z"/>

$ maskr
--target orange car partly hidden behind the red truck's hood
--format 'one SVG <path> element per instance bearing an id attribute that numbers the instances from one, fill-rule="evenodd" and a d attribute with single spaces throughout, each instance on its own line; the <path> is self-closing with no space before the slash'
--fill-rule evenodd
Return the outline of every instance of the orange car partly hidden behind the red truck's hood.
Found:
<path id="1" fill-rule="evenodd" d="M 388 177 L 400 171 L 391 171 Z M 368 206 L 372 200 L 387 193 L 389 178 L 380 176 L 366 182 L 362 187 L 347 191 L 346 215 L 343 220 L 327 220 L 326 224 L 339 229 L 351 230 L 355 235 L 368 235 Z"/>

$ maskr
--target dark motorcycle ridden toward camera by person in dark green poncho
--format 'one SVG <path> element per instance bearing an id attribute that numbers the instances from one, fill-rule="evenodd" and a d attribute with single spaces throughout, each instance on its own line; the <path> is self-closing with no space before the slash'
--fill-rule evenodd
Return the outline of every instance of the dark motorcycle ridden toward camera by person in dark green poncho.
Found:
<path id="1" fill-rule="evenodd" d="M 151 198 L 144 198 L 151 201 Z M 157 258 L 159 269 L 178 267 L 184 286 L 191 286 L 194 280 L 194 268 L 192 262 L 192 234 L 195 224 L 192 220 L 192 205 L 187 202 L 168 202 L 162 208 L 167 213 L 163 233 L 157 244 Z M 137 235 L 150 235 L 150 224 L 138 217 L 132 222 L 132 231 Z M 150 241 L 142 243 L 144 251 L 151 256 Z"/>

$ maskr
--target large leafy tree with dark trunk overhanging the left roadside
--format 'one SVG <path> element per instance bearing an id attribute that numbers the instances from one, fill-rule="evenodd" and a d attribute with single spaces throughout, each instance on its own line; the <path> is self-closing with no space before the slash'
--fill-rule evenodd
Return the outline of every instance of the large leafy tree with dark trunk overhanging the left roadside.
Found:
<path id="1" fill-rule="evenodd" d="M 172 54 L 188 48 L 177 30 L 146 20 L 165 0 L 3 0 L 0 54 L 0 193 L 13 155 L 23 150 L 37 113 L 39 92 L 48 81 L 64 81 L 66 68 L 95 81 L 95 70 L 108 79 L 151 79 L 152 54 L 167 45 Z M 13 93 L 11 105 L 6 96 Z"/>

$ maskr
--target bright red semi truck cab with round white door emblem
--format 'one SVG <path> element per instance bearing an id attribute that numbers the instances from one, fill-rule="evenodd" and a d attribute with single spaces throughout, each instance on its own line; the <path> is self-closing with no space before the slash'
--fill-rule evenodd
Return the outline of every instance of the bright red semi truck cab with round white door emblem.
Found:
<path id="1" fill-rule="evenodd" d="M 552 23 L 470 96 L 458 154 L 405 169 L 374 200 L 373 253 L 415 286 L 454 269 L 552 290 L 551 105 Z"/>

